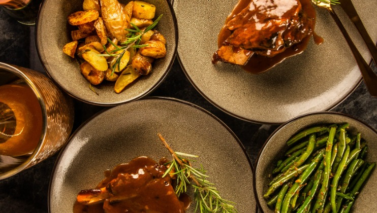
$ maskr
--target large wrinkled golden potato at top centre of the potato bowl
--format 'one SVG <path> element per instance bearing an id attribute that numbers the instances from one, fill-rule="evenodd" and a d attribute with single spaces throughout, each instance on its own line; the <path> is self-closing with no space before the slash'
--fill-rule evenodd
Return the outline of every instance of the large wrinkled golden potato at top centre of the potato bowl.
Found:
<path id="1" fill-rule="evenodd" d="M 102 19 L 109 37 L 125 42 L 128 31 L 124 29 L 129 28 L 130 17 L 125 15 L 123 7 L 117 0 L 100 0 L 100 3 Z"/>

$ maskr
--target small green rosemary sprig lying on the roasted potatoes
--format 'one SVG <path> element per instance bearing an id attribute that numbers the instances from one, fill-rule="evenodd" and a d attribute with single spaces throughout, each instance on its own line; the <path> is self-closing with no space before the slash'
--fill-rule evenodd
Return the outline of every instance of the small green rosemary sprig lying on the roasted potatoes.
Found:
<path id="1" fill-rule="evenodd" d="M 133 48 L 141 48 L 141 47 L 146 47 L 148 45 L 139 45 L 140 41 L 141 41 L 141 36 L 146 33 L 147 31 L 153 29 L 157 23 L 160 21 L 162 17 L 162 14 L 155 20 L 153 21 L 152 24 L 150 24 L 147 28 L 145 28 L 143 31 L 141 31 L 135 24 L 131 23 L 131 25 L 135 28 L 135 29 L 125 29 L 127 31 L 129 31 L 130 33 L 127 34 L 127 40 L 123 43 L 120 43 L 121 46 L 117 46 L 116 44 L 114 44 L 109 38 L 107 38 L 107 40 L 109 41 L 109 43 L 115 47 L 114 50 L 112 51 L 108 51 L 106 46 L 103 45 L 104 49 L 105 49 L 105 52 L 106 54 L 101 54 L 101 56 L 112 56 L 114 57 L 110 62 L 110 67 L 112 69 L 112 72 L 111 72 L 111 75 L 114 74 L 115 72 L 115 68 L 118 67 L 118 70 L 120 71 L 120 60 L 124 54 L 125 51 L 127 51 L 130 47 L 133 47 Z M 117 51 L 121 51 L 119 53 L 116 53 Z"/>

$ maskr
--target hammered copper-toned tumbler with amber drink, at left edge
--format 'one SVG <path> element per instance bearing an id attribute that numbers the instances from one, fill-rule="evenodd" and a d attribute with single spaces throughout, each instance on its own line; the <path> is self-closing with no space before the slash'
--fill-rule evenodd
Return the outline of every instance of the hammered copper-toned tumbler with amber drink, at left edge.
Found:
<path id="1" fill-rule="evenodd" d="M 36 149 L 23 156 L 0 155 L 0 180 L 45 160 L 64 146 L 71 134 L 74 107 L 47 76 L 32 69 L 0 62 L 0 85 L 21 82 L 32 88 L 42 109 L 42 133 Z"/>

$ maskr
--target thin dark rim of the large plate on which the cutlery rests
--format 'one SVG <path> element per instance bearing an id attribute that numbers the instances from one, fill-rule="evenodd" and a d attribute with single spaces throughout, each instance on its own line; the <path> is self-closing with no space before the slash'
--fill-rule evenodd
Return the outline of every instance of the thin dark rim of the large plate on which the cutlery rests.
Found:
<path id="1" fill-rule="evenodd" d="M 174 6 L 174 3 L 176 2 L 175 0 L 171 0 L 172 1 L 172 5 Z M 179 43 L 179 41 L 178 41 Z M 217 103 L 215 103 L 214 101 L 212 101 L 210 98 L 208 98 L 203 91 L 201 91 L 199 89 L 199 87 L 194 83 L 194 81 L 192 80 L 192 78 L 190 77 L 189 73 L 187 73 L 187 70 L 184 68 L 184 65 L 182 63 L 182 60 L 181 58 L 179 57 L 179 50 L 177 50 L 177 55 L 176 55 L 176 58 L 178 59 L 178 62 L 179 62 L 179 65 L 181 66 L 181 69 L 183 70 L 183 73 L 184 75 L 186 76 L 186 78 L 189 80 L 189 82 L 193 85 L 193 87 L 208 101 L 210 102 L 212 105 L 214 105 L 217 109 L 221 110 L 222 112 L 230 115 L 230 116 L 233 116 L 235 118 L 238 118 L 240 120 L 243 120 L 243 121 L 247 121 L 247 122 L 250 122 L 250 123 L 255 123 L 255 124 L 268 124 L 268 125 L 281 125 L 281 124 L 285 124 L 287 122 L 289 122 L 290 120 L 286 121 L 286 122 L 265 122 L 265 121 L 259 121 L 259 120 L 254 120 L 254 119 L 249 119 L 249 118 L 245 118 L 245 117 L 242 117 L 242 116 L 239 116 L 239 115 L 236 115 L 226 109 L 224 109 L 223 107 L 219 106 Z M 369 66 L 371 66 L 371 64 L 373 63 L 373 60 L 371 59 L 370 62 L 368 63 Z M 356 64 L 356 61 L 355 61 L 355 65 Z M 359 68 L 358 68 L 359 69 Z M 254 75 L 254 74 L 250 74 L 250 75 Z M 258 74 L 256 74 L 258 75 Z M 347 99 L 361 84 L 361 82 L 363 81 L 363 78 L 360 76 L 360 79 L 359 81 L 355 84 L 355 86 L 349 91 L 349 93 L 347 93 L 346 95 L 344 95 L 343 98 L 339 99 L 337 102 L 334 102 L 330 107 L 326 108 L 326 109 L 323 109 L 322 111 L 323 112 L 329 112 L 330 110 L 334 109 L 335 107 L 337 107 L 337 105 L 339 105 L 340 103 L 342 103 L 345 99 Z M 313 112 L 311 112 L 313 113 Z M 306 113 L 306 114 L 310 114 L 310 113 Z M 306 115 L 306 114 L 303 114 L 303 115 Z"/>

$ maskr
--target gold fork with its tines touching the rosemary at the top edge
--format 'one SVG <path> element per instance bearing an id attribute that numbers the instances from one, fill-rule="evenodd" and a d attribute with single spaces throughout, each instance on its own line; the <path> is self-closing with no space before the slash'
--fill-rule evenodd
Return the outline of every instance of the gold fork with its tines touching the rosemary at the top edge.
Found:
<path id="1" fill-rule="evenodd" d="M 364 83 L 366 85 L 366 88 L 368 89 L 369 93 L 377 97 L 377 75 L 373 73 L 373 70 L 370 68 L 370 66 L 365 62 L 363 56 L 361 56 L 360 52 L 357 50 L 355 44 L 352 42 L 350 35 L 345 30 L 343 24 L 340 22 L 338 16 L 335 14 L 335 11 L 331 8 L 331 4 L 329 1 L 319 1 L 319 0 L 311 0 L 314 4 L 316 4 L 319 7 L 325 8 L 331 15 L 331 17 L 334 19 L 336 25 L 338 25 L 341 33 L 344 36 L 345 41 L 347 41 L 348 46 L 350 47 L 356 62 L 360 68 L 361 75 L 364 79 Z"/>

